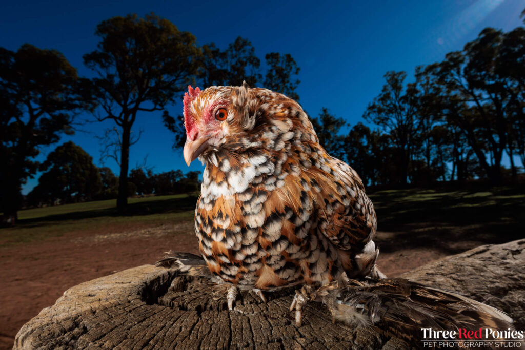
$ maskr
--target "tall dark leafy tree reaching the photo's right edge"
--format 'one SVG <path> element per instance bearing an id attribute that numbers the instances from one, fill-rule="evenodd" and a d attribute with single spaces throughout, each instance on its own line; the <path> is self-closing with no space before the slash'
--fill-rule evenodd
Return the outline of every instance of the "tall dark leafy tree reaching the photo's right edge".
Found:
<path id="1" fill-rule="evenodd" d="M 494 184 L 502 179 L 504 152 L 525 161 L 523 30 L 485 28 L 462 51 L 450 52 L 420 73 L 434 84 L 429 93 L 435 98 L 429 105 L 458 128 L 477 157 L 480 175 Z M 515 167 L 513 172 L 516 177 Z"/>

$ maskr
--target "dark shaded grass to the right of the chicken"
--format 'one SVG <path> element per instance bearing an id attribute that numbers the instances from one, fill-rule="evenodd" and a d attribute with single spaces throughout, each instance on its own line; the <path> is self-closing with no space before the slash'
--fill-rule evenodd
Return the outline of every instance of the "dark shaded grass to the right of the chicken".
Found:
<path id="1" fill-rule="evenodd" d="M 525 190 L 391 190 L 371 195 L 382 252 L 432 248 L 455 254 L 525 237 Z"/>

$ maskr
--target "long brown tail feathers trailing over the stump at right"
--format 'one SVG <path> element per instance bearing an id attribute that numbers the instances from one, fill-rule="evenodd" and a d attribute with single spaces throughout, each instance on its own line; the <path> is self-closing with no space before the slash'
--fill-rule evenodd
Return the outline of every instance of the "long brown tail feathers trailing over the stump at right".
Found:
<path id="1" fill-rule="evenodd" d="M 402 278 L 351 280 L 343 288 L 317 292 L 334 320 L 372 327 L 408 343 L 423 340 L 422 328 L 434 331 L 514 329 L 512 319 L 463 295 Z"/>

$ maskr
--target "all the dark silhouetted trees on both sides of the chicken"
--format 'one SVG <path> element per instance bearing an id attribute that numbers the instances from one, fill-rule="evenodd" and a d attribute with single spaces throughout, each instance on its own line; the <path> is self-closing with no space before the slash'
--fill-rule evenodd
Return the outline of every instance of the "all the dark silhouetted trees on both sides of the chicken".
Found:
<path id="1" fill-rule="evenodd" d="M 52 186 L 61 185 L 51 177 L 60 177 L 64 169 L 35 161 L 42 146 L 81 128 L 77 117 L 82 113 L 94 121 L 114 123 L 100 140 L 103 156 L 114 158 L 120 166 L 117 207 L 123 212 L 130 193 L 175 192 L 174 183 L 182 188 L 181 181 L 192 178 L 146 171 L 148 181 L 140 183 L 131 179 L 142 175 L 129 169 L 130 147 L 140 138 L 140 132 L 133 133 L 134 122 L 148 112 L 162 115 L 175 134 L 175 147 L 184 143 L 181 116 L 172 116 L 165 108 L 180 102 L 188 84 L 239 86 L 246 80 L 251 87 L 266 87 L 299 100 L 299 67 L 291 55 L 269 52 L 262 71 L 261 59 L 245 38 L 238 37 L 225 49 L 213 43 L 199 46 L 191 33 L 153 14 L 103 20 L 95 35 L 97 48 L 83 55 L 90 78 L 79 77 L 56 50 L 29 44 L 16 52 L 0 48 L 4 222 L 14 224 L 22 205 L 22 185 L 39 169 L 52 174 L 41 179 L 39 194 L 35 188 L 33 197 L 39 200 L 87 200 L 114 191 L 114 186 L 103 185 L 97 192 L 95 184 L 79 192 L 64 182 L 66 187 L 59 192 L 66 195 L 60 197 L 55 195 L 58 187 Z M 507 175 L 517 181 L 521 169 L 514 157 L 525 164 L 523 27 L 508 33 L 486 28 L 442 62 L 417 67 L 414 82 L 406 83 L 405 78 L 405 72 L 386 73 L 382 91 L 363 115 L 372 128 L 358 123 L 342 134 L 345 120 L 322 108 L 319 117 L 311 120 L 329 153 L 351 164 L 365 184 L 425 185 L 472 178 L 500 184 Z M 320 99 L 321 86 L 320 82 Z M 510 170 L 502 167 L 504 154 L 510 158 Z M 92 177 L 101 176 L 101 181 L 106 174 L 90 172 Z M 172 185 L 161 185 L 168 181 L 165 178 Z M 82 195 L 75 198 L 76 193 Z"/>

